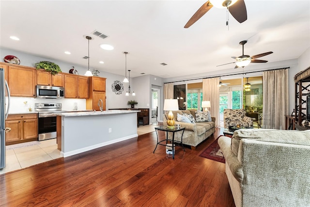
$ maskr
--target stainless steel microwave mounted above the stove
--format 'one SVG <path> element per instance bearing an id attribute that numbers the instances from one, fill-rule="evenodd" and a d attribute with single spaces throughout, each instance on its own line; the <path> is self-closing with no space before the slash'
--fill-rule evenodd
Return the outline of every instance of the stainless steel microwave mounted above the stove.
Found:
<path id="1" fill-rule="evenodd" d="M 37 98 L 64 98 L 64 88 L 47 85 L 36 85 Z"/>

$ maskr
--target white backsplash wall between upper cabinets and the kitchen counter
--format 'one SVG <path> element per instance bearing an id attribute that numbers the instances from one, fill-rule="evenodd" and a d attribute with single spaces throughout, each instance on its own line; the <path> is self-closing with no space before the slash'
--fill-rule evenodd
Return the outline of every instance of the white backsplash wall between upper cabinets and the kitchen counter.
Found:
<path id="1" fill-rule="evenodd" d="M 6 103 L 8 103 L 6 97 Z M 78 110 L 86 110 L 86 99 L 77 98 L 28 98 L 28 97 L 11 97 L 11 105 L 9 113 L 34 111 L 36 103 L 61 103 L 63 111 L 73 111 L 75 107 Z"/>

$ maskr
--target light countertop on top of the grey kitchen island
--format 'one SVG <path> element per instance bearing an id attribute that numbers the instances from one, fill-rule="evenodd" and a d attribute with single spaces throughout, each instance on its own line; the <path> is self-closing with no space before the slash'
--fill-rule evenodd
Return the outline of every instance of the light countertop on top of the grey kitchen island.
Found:
<path id="1" fill-rule="evenodd" d="M 94 115 L 109 115 L 120 113 L 137 113 L 138 110 L 108 110 L 108 111 L 71 111 L 62 113 L 53 113 L 57 116 L 94 116 Z"/>

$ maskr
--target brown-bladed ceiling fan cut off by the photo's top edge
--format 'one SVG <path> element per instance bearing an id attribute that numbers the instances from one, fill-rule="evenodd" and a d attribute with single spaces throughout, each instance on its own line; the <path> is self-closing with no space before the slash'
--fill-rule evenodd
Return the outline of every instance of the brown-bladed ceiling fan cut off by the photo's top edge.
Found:
<path id="1" fill-rule="evenodd" d="M 242 23 L 248 19 L 247 8 L 244 0 L 208 0 L 205 2 L 198 11 L 188 20 L 184 28 L 189 28 L 205 13 L 207 13 L 213 6 L 217 8 L 227 8 L 231 15 L 239 22 Z M 228 22 L 226 22 L 226 25 Z"/>

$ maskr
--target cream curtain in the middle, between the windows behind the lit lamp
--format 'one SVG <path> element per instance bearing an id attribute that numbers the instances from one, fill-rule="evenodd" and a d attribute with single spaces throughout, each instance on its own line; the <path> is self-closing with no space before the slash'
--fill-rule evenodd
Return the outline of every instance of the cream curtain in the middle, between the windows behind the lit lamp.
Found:
<path id="1" fill-rule="evenodd" d="M 219 77 L 202 80 L 202 99 L 210 101 L 211 116 L 216 118 L 215 127 L 219 124 Z"/>

